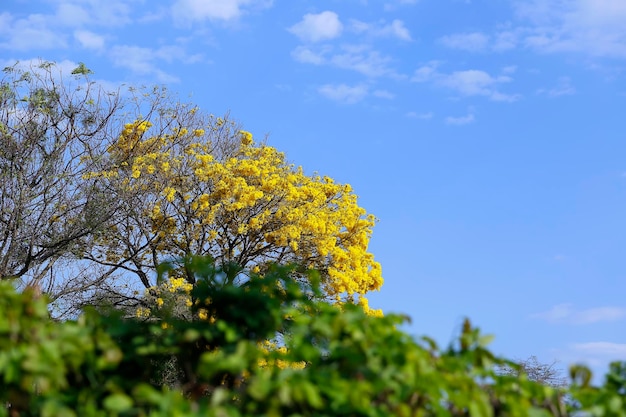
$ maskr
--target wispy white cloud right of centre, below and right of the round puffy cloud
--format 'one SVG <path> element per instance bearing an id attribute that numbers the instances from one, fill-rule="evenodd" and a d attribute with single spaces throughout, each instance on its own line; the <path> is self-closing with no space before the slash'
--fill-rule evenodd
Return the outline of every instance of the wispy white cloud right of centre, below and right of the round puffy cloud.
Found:
<path id="1" fill-rule="evenodd" d="M 418 68 L 411 80 L 413 82 L 432 82 L 453 90 L 463 96 L 485 96 L 492 101 L 517 101 L 518 94 L 505 94 L 497 87 L 512 81 L 508 75 L 492 76 L 482 70 L 455 71 L 450 74 L 439 72 L 437 62 L 430 62 Z"/>

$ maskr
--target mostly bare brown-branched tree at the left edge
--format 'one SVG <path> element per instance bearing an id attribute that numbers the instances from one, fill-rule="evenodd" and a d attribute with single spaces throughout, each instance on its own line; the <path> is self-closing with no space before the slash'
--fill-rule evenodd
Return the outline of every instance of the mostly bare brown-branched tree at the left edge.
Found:
<path id="1" fill-rule="evenodd" d="M 121 111 L 80 74 L 64 79 L 52 63 L 18 64 L 0 79 L 0 279 L 19 277 L 53 298 L 98 279 L 75 264 L 75 244 L 104 227 L 118 208 L 84 175 L 98 168 Z"/>

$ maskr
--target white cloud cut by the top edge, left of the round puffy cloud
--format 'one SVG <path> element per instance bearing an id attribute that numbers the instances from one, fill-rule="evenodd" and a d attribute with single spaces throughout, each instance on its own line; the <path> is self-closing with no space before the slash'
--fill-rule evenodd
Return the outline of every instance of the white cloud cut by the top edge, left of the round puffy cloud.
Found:
<path id="1" fill-rule="evenodd" d="M 236 20 L 245 7 L 270 7 L 270 0 L 177 0 L 172 15 L 179 23 L 202 20 Z"/>

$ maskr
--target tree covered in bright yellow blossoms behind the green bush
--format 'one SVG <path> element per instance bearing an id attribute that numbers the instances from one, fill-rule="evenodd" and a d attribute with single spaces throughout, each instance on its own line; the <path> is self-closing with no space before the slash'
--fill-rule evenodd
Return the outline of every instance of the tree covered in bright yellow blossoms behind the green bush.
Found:
<path id="1" fill-rule="evenodd" d="M 351 187 L 305 174 L 227 118 L 196 108 L 139 118 L 107 159 L 108 169 L 88 177 L 127 209 L 86 256 L 135 274 L 146 288 L 159 264 L 192 255 L 261 273 L 272 262 L 315 268 L 329 298 L 359 299 L 366 309 L 360 296 L 382 285 L 368 251 L 375 218 Z M 177 273 L 194 284 L 184 267 Z"/>

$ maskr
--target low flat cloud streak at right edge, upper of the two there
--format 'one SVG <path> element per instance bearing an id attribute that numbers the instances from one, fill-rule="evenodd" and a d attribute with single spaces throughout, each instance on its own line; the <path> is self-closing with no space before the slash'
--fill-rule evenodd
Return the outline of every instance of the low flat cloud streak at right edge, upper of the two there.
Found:
<path id="1" fill-rule="evenodd" d="M 576 310 L 571 304 L 559 304 L 548 311 L 531 315 L 531 318 L 559 324 L 593 324 L 604 321 L 617 321 L 626 318 L 626 308 L 624 307 L 595 307 L 586 310 Z"/>

